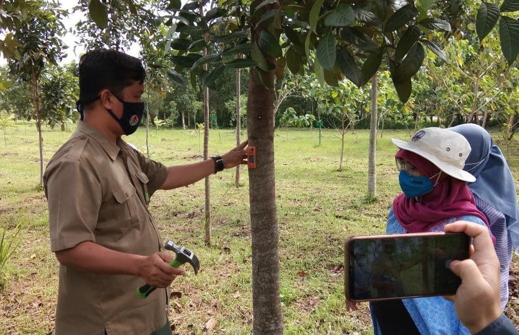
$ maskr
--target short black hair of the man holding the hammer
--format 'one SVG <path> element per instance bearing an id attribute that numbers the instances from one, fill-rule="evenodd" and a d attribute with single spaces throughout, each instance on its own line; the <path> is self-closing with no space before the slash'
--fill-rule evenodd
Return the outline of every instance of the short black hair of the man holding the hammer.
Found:
<path id="1" fill-rule="evenodd" d="M 79 100 L 88 105 L 108 89 L 120 96 L 122 90 L 139 81 L 144 83 L 146 71 L 139 58 L 117 50 L 98 49 L 81 56 L 78 65 Z"/>

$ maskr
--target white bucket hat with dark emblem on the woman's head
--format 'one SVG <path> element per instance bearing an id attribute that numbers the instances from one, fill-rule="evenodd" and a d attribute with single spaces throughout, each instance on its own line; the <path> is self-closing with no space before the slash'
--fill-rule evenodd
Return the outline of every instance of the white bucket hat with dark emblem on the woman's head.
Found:
<path id="1" fill-rule="evenodd" d="M 476 180 L 469 172 L 463 171 L 471 148 L 469 141 L 457 132 L 428 127 L 415 132 L 407 142 L 395 138 L 391 141 L 400 149 L 424 157 L 451 177 L 470 183 Z"/>

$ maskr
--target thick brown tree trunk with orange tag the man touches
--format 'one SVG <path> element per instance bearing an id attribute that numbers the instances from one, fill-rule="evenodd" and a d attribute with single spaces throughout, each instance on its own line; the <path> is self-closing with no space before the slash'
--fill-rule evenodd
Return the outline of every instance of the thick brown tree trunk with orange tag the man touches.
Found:
<path id="1" fill-rule="evenodd" d="M 267 5 L 275 8 L 276 5 Z M 255 23 L 252 22 L 252 27 Z M 258 28 L 258 30 L 261 28 Z M 251 28 L 252 42 L 259 31 Z M 266 56 L 266 55 L 265 55 Z M 274 59 L 266 58 L 275 63 Z M 253 335 L 282 335 L 279 291 L 279 227 L 274 171 L 274 71 L 251 70 L 247 100 L 249 145 L 256 148 L 256 168 L 249 169 L 252 233 Z M 258 77 L 263 75 L 263 83 Z"/>

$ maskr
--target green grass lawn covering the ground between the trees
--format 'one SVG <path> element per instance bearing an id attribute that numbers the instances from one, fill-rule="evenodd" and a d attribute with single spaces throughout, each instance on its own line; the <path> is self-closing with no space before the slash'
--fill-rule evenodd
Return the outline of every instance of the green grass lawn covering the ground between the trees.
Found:
<path id="1" fill-rule="evenodd" d="M 57 299 L 58 262 L 50 252 L 45 195 L 38 188 L 39 154 L 34 125 L 9 128 L 0 147 L 0 228 L 26 224 L 18 251 L 7 262 L 8 282 L 0 292 L 0 333 L 49 334 Z M 246 131 L 245 131 L 246 134 Z M 45 129 L 48 162 L 70 133 Z M 499 136 L 499 134 L 497 134 Z M 245 136 L 243 136 L 245 137 Z M 367 197 L 368 131 L 346 135 L 342 171 L 340 142 L 323 130 L 278 129 L 275 137 L 276 203 L 280 236 L 280 289 L 285 334 L 370 334 L 367 307 L 347 312 L 344 303 L 343 243 L 351 235 L 384 232 L 387 212 L 399 193 L 391 137 L 406 131 L 384 130 L 377 143 L 377 196 Z M 128 142 L 146 151 L 145 131 Z M 210 155 L 235 146 L 232 130 L 211 130 Z M 516 155 L 515 142 L 511 152 Z M 151 129 L 152 158 L 166 165 L 201 159 L 201 140 L 193 130 Z M 503 150 L 504 151 L 504 150 Z M 519 161 L 512 159 L 515 175 Z M 201 271 L 173 282 L 180 292 L 170 315 L 178 334 L 250 334 L 252 325 L 251 233 L 247 168 L 242 186 L 235 169 L 211 176 L 212 245 L 203 243 L 203 182 L 152 197 L 151 212 L 164 240 L 196 252 Z M 211 318 L 216 326 L 204 331 Z"/>

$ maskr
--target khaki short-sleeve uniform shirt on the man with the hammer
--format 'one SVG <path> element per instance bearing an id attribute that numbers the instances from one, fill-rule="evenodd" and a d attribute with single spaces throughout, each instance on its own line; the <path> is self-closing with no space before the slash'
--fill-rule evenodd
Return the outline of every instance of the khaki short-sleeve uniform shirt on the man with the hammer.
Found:
<path id="1" fill-rule="evenodd" d="M 121 139 L 108 140 L 79 122 L 44 175 L 53 252 L 90 241 L 113 250 L 149 255 L 162 240 L 147 208 L 168 168 Z M 98 275 L 60 264 L 56 335 L 147 335 L 166 324 L 167 293 L 141 299 L 142 278 Z"/>

